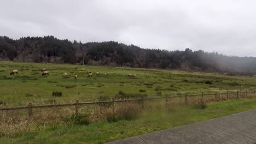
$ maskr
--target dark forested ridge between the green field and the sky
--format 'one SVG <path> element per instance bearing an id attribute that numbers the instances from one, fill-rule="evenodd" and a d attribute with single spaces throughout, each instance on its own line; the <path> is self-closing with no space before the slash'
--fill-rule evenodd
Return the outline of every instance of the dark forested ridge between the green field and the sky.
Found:
<path id="1" fill-rule="evenodd" d="M 256 58 L 226 56 L 217 52 L 142 49 L 115 41 L 81 43 L 53 36 L 0 37 L 0 61 L 70 63 L 178 69 L 250 75 L 256 73 Z"/>

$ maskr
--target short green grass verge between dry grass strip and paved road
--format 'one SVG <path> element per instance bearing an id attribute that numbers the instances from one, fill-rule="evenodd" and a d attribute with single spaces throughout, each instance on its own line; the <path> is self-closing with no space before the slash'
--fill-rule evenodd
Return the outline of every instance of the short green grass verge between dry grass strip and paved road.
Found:
<path id="1" fill-rule="evenodd" d="M 43 131 L 37 128 L 29 133 L 0 137 L 0 143 L 103 143 L 255 108 L 256 99 L 212 102 L 207 104 L 206 109 L 199 109 L 193 105 L 167 107 L 142 112 L 132 121 L 71 124 L 66 127 L 49 124 Z"/>

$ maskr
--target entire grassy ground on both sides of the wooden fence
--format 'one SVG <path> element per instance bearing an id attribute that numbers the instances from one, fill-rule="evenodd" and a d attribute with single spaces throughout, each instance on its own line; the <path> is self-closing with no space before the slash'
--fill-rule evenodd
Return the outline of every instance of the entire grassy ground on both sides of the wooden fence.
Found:
<path id="1" fill-rule="evenodd" d="M 42 68 L 50 75 L 41 76 Z M 9 76 L 13 69 L 19 74 Z M 87 77 L 87 70 L 92 77 Z M 68 76 L 63 78 L 63 73 Z M 136 74 L 136 78 L 128 74 Z M 241 85 L 245 91 L 255 89 L 255 80 L 173 70 L 0 62 L 0 107 L 94 101 L 117 94 L 155 97 L 237 91 Z M 53 92 L 62 95 L 56 97 Z M 141 102 L 115 104 L 114 110 L 109 105 L 79 106 L 79 115 L 74 115 L 74 106 L 33 109 L 32 119 L 27 110 L 0 111 L 0 143 L 103 143 L 256 108 L 255 94 L 237 100 L 236 94 L 230 94 L 232 100 L 226 94 L 222 97 L 219 102 L 203 104 L 203 109 L 202 104 L 184 105 L 183 97 L 172 98 L 168 105 L 165 99 L 146 101 L 144 109 Z M 177 101 L 181 103 L 174 105 Z"/>

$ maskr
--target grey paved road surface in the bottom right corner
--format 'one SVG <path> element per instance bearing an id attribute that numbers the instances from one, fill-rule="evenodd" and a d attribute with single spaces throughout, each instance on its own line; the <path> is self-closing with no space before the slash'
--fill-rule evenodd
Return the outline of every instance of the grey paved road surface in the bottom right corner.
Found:
<path id="1" fill-rule="evenodd" d="M 114 143 L 256 143 L 256 110 L 108 142 Z"/>

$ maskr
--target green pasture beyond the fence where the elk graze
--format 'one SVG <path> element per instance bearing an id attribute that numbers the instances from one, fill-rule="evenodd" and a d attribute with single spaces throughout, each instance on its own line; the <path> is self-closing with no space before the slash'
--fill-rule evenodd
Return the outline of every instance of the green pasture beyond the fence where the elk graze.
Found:
<path id="1" fill-rule="evenodd" d="M 47 68 L 49 76 L 41 76 L 40 69 Z M 19 74 L 9 76 L 9 71 L 18 69 Z M 87 77 L 86 71 L 93 73 Z M 96 72 L 100 75 L 96 75 Z M 63 78 L 67 73 L 69 78 Z M 107 73 L 107 76 L 104 76 Z M 74 74 L 78 79 L 74 80 Z M 136 78 L 127 77 L 136 74 Z M 0 101 L 5 106 L 50 103 L 73 103 L 93 101 L 101 96 L 114 97 L 124 93 L 146 93 L 148 97 L 177 95 L 183 93 L 210 93 L 229 90 L 252 90 L 256 77 L 224 76 L 211 73 L 189 73 L 185 71 L 113 68 L 83 65 L 0 62 Z M 212 84 L 206 84 L 210 81 Z M 139 90 L 146 92 L 139 92 Z M 62 92 L 54 97 L 53 92 Z M 1 104 L 0 104 L 1 107 Z"/>

